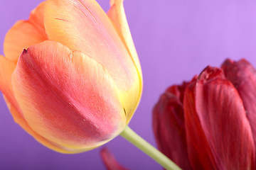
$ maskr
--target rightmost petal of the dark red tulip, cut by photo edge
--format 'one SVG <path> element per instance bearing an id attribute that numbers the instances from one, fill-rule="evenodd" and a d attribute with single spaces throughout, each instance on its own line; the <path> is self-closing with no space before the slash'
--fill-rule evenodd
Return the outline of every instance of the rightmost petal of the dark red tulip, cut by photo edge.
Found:
<path id="1" fill-rule="evenodd" d="M 256 70 L 246 60 L 225 60 L 222 68 L 242 98 L 256 146 Z"/>

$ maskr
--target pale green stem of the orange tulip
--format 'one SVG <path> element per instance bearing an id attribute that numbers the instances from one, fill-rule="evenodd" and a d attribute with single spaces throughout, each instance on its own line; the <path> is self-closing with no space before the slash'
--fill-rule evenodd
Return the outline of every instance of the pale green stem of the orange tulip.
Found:
<path id="1" fill-rule="evenodd" d="M 156 162 L 161 164 L 165 169 L 168 170 L 180 170 L 180 168 L 174 164 L 168 157 L 159 152 L 158 149 L 153 147 L 146 142 L 146 140 L 142 139 L 136 132 L 134 132 L 129 126 L 127 126 L 124 131 L 120 134 L 124 139 L 131 142 L 133 145 L 141 149 L 145 154 L 149 155 Z"/>

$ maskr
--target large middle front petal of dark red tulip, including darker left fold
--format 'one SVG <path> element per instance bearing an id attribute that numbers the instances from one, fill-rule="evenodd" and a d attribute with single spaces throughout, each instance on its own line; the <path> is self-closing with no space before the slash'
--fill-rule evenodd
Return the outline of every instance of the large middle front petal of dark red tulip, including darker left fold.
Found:
<path id="1" fill-rule="evenodd" d="M 255 169 L 252 130 L 234 86 L 206 67 L 185 91 L 188 157 L 193 169 Z"/>

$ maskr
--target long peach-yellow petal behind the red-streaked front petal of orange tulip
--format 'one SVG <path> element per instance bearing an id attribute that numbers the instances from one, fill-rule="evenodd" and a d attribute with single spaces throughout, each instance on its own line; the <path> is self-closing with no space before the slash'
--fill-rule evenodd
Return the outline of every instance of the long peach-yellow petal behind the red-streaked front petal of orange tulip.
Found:
<path id="1" fill-rule="evenodd" d="M 95 0 L 48 0 L 46 33 L 70 48 L 102 64 L 117 85 L 127 120 L 142 93 L 142 79 L 110 18 Z"/>

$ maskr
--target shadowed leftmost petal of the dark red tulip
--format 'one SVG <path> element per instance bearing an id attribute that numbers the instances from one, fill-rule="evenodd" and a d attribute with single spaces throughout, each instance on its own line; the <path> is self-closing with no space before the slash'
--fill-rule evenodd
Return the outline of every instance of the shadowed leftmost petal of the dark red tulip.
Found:
<path id="1" fill-rule="evenodd" d="M 186 83 L 171 86 L 161 95 L 153 112 L 153 128 L 159 150 L 181 169 L 191 169 L 186 147 L 183 103 L 180 96 Z"/>

